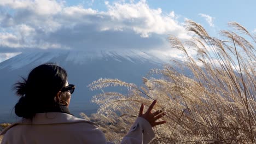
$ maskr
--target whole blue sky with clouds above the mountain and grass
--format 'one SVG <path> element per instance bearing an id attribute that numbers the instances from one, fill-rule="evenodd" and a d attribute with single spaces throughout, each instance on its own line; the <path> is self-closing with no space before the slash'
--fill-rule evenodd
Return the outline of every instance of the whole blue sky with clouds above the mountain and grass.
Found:
<path id="1" fill-rule="evenodd" d="M 229 21 L 256 33 L 255 5 L 253 0 L 1 0 L 0 62 L 20 52 L 53 49 L 166 52 L 168 34 L 190 38 L 185 19 L 215 37 Z"/>

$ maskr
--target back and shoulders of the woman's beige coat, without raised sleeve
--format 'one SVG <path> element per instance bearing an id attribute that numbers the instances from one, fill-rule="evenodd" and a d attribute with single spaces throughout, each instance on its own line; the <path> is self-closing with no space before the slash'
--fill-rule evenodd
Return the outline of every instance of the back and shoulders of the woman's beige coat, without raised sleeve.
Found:
<path id="1" fill-rule="evenodd" d="M 22 119 L 2 131 L 4 141 L 26 143 L 42 140 L 44 143 L 105 143 L 98 125 L 66 113 L 37 113 L 33 121 Z M 15 142 L 10 142 L 15 140 Z M 6 142 L 6 143 L 8 143 Z"/>

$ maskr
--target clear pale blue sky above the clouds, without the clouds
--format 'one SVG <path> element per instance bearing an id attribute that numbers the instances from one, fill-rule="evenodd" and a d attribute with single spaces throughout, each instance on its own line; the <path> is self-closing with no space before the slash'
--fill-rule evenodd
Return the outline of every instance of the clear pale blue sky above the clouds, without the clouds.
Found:
<path id="1" fill-rule="evenodd" d="M 98 10 L 106 10 L 105 1 L 66 1 L 67 5 L 82 4 L 87 8 L 94 8 Z M 108 1 L 110 3 L 117 1 Z M 129 1 L 126 1 L 129 2 Z M 138 1 L 133 1 L 138 2 Z M 174 11 L 175 14 L 180 15 L 181 21 L 183 18 L 188 18 L 196 22 L 200 22 L 207 27 L 206 21 L 199 16 L 199 14 L 206 14 L 214 18 L 214 25 L 216 29 L 226 28 L 226 24 L 229 21 L 236 21 L 247 29 L 253 31 L 256 28 L 256 1 L 254 0 L 215 0 L 215 1 L 203 1 L 203 0 L 147 0 L 150 8 L 161 8 L 162 13 L 168 14 Z"/>

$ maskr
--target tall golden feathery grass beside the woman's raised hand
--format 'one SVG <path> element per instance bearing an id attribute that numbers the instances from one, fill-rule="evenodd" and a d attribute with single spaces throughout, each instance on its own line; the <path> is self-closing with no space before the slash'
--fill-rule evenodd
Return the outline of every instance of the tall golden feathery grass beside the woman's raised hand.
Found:
<path id="1" fill-rule="evenodd" d="M 154 110 L 163 109 L 167 115 L 162 119 L 167 123 L 154 128 L 152 143 L 256 143 L 255 35 L 236 22 L 228 25 L 232 30 L 220 31 L 219 39 L 188 20 L 192 39 L 169 37 L 171 47 L 183 53 L 184 61 L 173 60 L 174 65 L 150 71 L 141 87 L 117 79 L 92 82 L 92 90 L 109 86 L 129 89 L 127 94 L 103 92 L 92 99 L 100 105 L 95 115 L 111 119 L 106 120 L 108 125 L 100 124 L 108 140 L 118 136 L 120 140 L 128 130 L 125 123 L 134 121 L 140 104 L 150 105 L 157 99 Z M 188 49 L 197 55 L 191 56 Z M 121 135 L 109 133 L 115 126 L 120 128 L 115 134 Z"/>

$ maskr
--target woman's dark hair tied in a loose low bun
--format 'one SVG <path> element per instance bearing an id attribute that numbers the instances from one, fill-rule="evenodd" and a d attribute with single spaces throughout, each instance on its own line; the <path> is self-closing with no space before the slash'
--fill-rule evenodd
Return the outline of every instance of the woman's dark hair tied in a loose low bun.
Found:
<path id="1" fill-rule="evenodd" d="M 14 85 L 20 100 L 15 105 L 19 117 L 33 118 L 36 113 L 56 105 L 55 96 L 65 87 L 67 72 L 60 66 L 47 63 L 34 68 L 27 79 Z"/>

